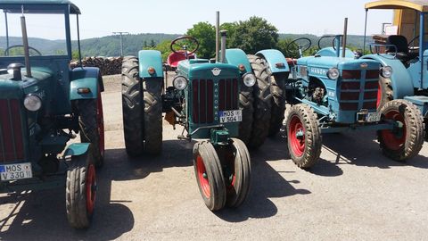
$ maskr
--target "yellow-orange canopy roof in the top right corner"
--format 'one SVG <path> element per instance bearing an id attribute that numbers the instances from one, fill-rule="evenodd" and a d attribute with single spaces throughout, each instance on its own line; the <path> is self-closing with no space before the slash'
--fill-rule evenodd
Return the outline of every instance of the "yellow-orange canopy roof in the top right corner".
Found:
<path id="1" fill-rule="evenodd" d="M 365 5 L 368 9 L 413 9 L 418 12 L 428 12 L 426 0 L 381 0 Z"/>

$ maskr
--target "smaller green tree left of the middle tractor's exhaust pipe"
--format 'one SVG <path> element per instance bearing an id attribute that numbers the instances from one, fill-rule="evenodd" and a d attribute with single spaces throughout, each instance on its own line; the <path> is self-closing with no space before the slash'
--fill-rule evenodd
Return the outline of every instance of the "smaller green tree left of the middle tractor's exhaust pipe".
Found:
<path id="1" fill-rule="evenodd" d="M 186 35 L 194 37 L 199 42 L 196 54 L 200 58 L 210 59 L 216 52 L 216 28 L 208 22 L 198 22 L 192 29 L 187 29 Z"/>

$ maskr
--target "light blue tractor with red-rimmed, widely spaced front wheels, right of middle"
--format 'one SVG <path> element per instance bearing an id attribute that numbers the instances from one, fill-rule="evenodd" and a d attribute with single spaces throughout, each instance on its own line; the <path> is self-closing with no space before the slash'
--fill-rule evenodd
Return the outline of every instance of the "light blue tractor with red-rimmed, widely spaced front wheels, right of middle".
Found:
<path id="1" fill-rule="evenodd" d="M 377 111 L 379 76 L 390 78 L 393 69 L 358 59 L 345 47 L 344 36 L 322 37 L 320 40 L 332 38 L 333 45 L 308 57 L 301 53 L 311 46 L 310 39 L 295 39 L 288 48 L 297 48 L 300 58 L 292 62 L 277 50 L 257 54 L 266 59 L 274 79 L 291 73 L 284 91 L 292 105 L 285 121 L 292 161 L 300 168 L 311 167 L 321 154 L 321 134 L 350 130 L 377 131 L 383 154 L 393 160 L 415 156 L 424 142 L 419 109 L 397 99 Z"/>

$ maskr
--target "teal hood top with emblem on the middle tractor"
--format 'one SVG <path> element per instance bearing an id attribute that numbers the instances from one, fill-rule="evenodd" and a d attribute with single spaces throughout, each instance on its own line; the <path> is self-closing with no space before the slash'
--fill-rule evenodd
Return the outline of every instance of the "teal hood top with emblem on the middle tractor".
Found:
<path id="1" fill-rule="evenodd" d="M 235 65 L 216 62 L 210 63 L 208 60 L 189 60 L 179 62 L 177 70 L 180 73 L 188 73 L 189 79 L 206 79 L 206 78 L 222 78 L 239 77 L 239 69 Z M 207 72 L 210 71 L 210 74 Z"/>

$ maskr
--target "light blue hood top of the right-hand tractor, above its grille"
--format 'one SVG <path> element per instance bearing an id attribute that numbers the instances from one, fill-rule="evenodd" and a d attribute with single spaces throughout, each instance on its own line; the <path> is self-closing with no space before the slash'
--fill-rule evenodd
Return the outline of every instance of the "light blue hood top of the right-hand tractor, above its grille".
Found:
<path id="1" fill-rule="evenodd" d="M 353 59 L 353 58 L 337 58 L 337 57 L 303 57 L 297 61 L 298 65 L 306 65 L 309 68 L 330 69 L 338 68 L 339 70 L 359 70 L 363 69 L 379 69 L 379 62 L 373 60 Z M 310 71 L 310 70 L 309 70 Z"/>

